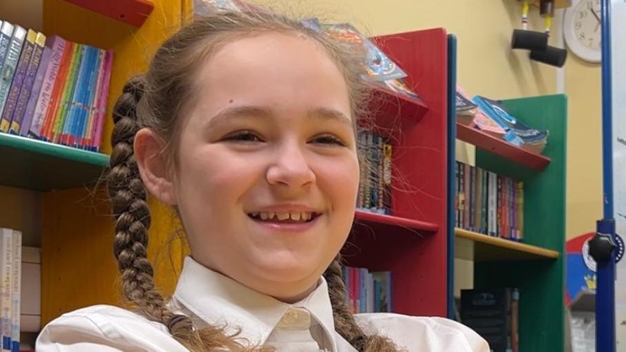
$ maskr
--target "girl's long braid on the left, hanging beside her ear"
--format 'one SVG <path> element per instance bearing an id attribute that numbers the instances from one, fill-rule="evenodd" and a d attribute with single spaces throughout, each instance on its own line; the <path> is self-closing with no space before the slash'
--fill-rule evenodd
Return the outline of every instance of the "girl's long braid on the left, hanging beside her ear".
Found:
<path id="1" fill-rule="evenodd" d="M 113 111 L 113 151 L 107 178 L 116 218 L 113 251 L 122 274 L 125 298 L 150 319 L 167 324 L 174 314 L 165 307 L 163 296 L 154 287 L 154 270 L 147 259 L 150 211 L 133 153 L 134 136 L 140 128 L 136 105 L 142 94 L 141 78 L 131 79 Z"/>

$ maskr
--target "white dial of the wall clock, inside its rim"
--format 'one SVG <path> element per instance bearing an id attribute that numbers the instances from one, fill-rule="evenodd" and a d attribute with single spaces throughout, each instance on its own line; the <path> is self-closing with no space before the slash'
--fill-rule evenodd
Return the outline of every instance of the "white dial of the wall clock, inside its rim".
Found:
<path id="1" fill-rule="evenodd" d="M 585 47 L 600 50 L 600 0 L 583 0 L 574 8 L 574 34 Z"/>

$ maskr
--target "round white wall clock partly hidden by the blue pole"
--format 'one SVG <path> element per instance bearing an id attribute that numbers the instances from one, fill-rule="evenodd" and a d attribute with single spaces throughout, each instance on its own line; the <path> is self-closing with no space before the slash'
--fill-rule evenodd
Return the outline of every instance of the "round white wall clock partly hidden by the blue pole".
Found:
<path id="1" fill-rule="evenodd" d="M 601 59 L 601 0 L 574 0 L 565 10 L 563 33 L 565 41 L 576 56 L 586 61 Z"/>

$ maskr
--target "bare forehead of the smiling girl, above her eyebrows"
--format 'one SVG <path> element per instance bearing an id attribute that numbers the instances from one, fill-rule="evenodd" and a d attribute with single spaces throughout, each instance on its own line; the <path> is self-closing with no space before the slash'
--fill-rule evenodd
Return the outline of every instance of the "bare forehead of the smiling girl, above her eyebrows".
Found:
<path id="1" fill-rule="evenodd" d="M 205 110 L 225 105 L 325 107 L 349 115 L 348 86 L 321 43 L 267 32 L 229 41 L 198 72 Z"/>

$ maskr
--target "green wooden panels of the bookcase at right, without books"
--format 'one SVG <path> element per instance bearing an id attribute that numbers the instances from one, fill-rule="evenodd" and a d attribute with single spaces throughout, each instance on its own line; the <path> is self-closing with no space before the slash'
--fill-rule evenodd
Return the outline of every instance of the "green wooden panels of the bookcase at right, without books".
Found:
<path id="1" fill-rule="evenodd" d="M 550 131 L 543 152 L 550 164 L 535 170 L 477 148 L 476 165 L 524 181 L 524 243 L 552 256 L 476 261 L 474 287 L 519 288 L 520 351 L 563 351 L 567 98 L 536 96 L 504 105 L 528 125 Z"/>

